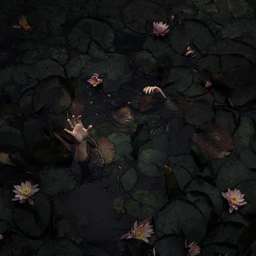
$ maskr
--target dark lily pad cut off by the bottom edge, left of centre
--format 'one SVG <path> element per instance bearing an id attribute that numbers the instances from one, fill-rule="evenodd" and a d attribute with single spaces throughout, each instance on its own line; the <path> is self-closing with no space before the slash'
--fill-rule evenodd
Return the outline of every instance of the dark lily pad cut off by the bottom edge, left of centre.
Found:
<path id="1" fill-rule="evenodd" d="M 83 256 L 81 249 L 70 239 L 57 238 L 47 241 L 42 245 L 37 253 L 37 256 L 49 256 L 49 255 L 76 255 Z"/>

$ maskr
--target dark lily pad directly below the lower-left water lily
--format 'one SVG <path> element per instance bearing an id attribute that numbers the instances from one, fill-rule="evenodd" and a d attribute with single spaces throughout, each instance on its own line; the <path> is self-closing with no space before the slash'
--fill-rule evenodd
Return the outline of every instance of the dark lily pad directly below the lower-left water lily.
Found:
<path id="1" fill-rule="evenodd" d="M 51 204 L 47 197 L 36 193 L 34 205 L 31 208 L 17 205 L 13 209 L 13 222 L 27 236 L 39 238 L 50 223 L 51 211 Z"/>

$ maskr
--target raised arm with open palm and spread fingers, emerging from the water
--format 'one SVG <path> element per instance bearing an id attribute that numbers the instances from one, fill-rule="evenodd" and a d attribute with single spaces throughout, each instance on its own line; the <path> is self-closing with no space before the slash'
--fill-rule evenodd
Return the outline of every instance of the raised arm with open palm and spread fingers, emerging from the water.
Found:
<path id="1" fill-rule="evenodd" d="M 72 116 L 72 121 L 68 119 L 68 124 L 72 131 L 64 129 L 64 131 L 76 140 L 76 153 L 75 158 L 78 162 L 84 162 L 89 159 L 89 147 L 88 147 L 88 137 L 90 136 L 93 126 L 89 125 L 87 129 L 83 127 L 81 122 L 81 115 L 75 118 Z"/>

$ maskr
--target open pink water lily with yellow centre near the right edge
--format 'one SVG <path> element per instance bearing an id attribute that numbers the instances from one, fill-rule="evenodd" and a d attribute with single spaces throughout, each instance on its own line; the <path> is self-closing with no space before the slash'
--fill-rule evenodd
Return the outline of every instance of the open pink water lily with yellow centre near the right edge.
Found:
<path id="1" fill-rule="evenodd" d="M 231 212 L 235 209 L 238 210 L 238 207 L 247 204 L 247 202 L 244 201 L 244 194 L 240 193 L 239 189 L 234 189 L 231 190 L 230 188 L 228 188 L 227 192 L 222 192 L 221 193 L 222 196 L 224 198 L 227 199 L 228 204 L 229 204 L 229 213 L 231 214 Z"/>

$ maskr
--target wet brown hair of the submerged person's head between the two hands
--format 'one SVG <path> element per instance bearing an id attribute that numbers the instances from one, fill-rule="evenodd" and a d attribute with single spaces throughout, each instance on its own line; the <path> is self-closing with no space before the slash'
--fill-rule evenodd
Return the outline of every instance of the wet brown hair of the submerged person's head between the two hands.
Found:
<path id="1" fill-rule="evenodd" d="M 135 123 L 134 113 L 129 106 L 118 106 L 112 113 L 112 121 L 118 130 L 129 132 Z"/>

